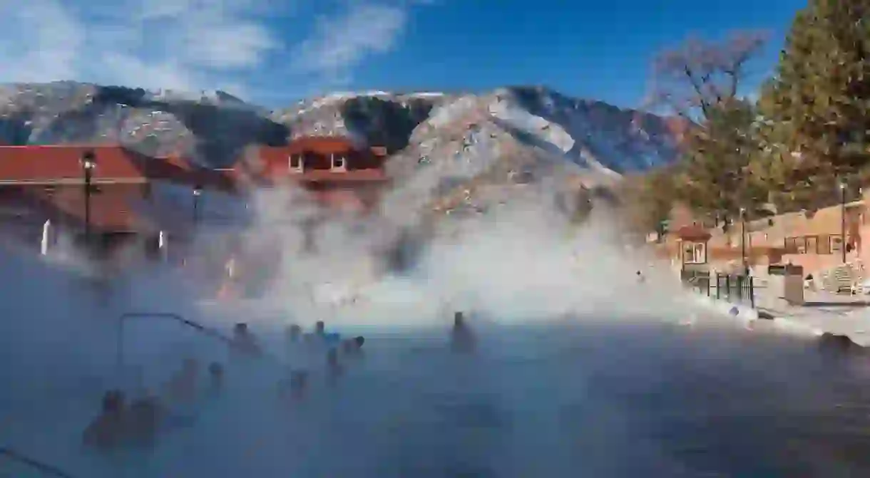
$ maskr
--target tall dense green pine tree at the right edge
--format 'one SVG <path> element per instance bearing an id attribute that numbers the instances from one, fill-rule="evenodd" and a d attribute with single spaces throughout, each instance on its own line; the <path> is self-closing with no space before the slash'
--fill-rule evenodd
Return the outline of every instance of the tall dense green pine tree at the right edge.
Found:
<path id="1" fill-rule="evenodd" d="M 770 169 L 793 201 L 826 202 L 837 181 L 870 163 L 868 15 L 867 0 L 811 0 L 762 92 L 775 138 L 767 160 L 790 166 Z"/>

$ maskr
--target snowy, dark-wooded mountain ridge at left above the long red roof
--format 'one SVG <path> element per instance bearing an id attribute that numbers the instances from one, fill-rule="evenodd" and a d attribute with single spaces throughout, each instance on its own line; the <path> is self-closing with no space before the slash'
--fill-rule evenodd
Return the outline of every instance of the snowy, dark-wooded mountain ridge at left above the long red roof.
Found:
<path id="1" fill-rule="evenodd" d="M 0 143 L 123 144 L 149 156 L 183 152 L 206 166 L 225 165 L 248 143 L 284 143 L 286 127 L 266 114 L 222 91 L 0 85 Z"/>

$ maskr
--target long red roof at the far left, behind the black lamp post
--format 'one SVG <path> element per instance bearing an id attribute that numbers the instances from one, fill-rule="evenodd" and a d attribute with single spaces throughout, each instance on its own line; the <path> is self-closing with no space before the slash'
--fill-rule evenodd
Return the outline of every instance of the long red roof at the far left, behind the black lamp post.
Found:
<path id="1" fill-rule="evenodd" d="M 93 151 L 94 180 L 142 180 L 134 156 L 121 146 L 27 145 L 0 146 L 0 182 L 23 183 L 84 180 L 80 160 Z"/>

